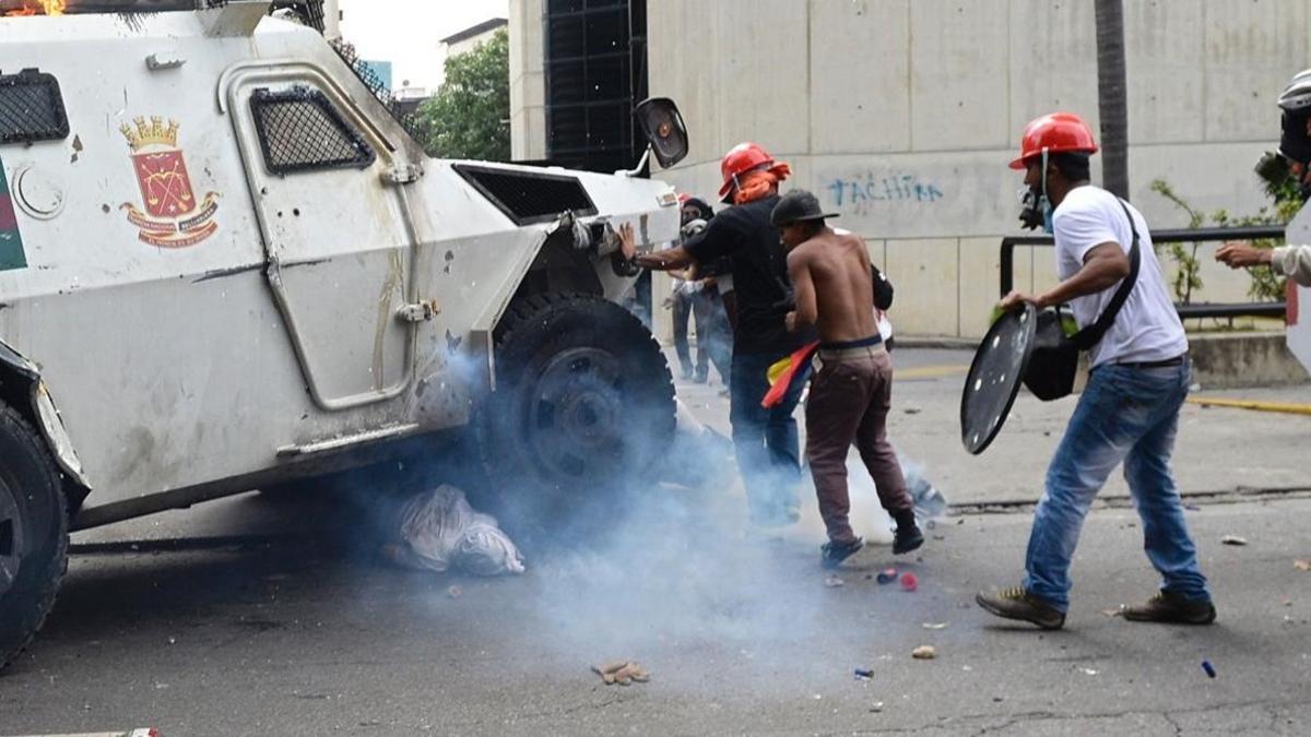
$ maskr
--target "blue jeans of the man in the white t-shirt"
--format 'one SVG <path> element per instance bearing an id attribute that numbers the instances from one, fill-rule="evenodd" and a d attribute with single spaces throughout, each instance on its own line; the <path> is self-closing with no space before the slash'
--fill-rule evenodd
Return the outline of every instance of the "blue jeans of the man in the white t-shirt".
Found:
<path id="1" fill-rule="evenodd" d="M 1162 590 L 1210 601 L 1184 506 L 1169 473 L 1179 408 L 1189 370 L 1099 366 L 1047 467 L 1046 493 L 1033 517 L 1024 588 L 1061 611 L 1070 606 L 1070 559 L 1093 497 L 1121 462 L 1143 526 L 1143 548 Z"/>

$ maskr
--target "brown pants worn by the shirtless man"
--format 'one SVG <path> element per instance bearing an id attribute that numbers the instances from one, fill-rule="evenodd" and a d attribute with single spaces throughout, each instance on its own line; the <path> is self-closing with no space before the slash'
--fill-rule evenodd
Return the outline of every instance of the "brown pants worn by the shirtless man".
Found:
<path id="1" fill-rule="evenodd" d="M 912 509 L 897 454 L 888 443 L 893 366 L 881 345 L 819 350 L 819 370 L 810 379 L 806 400 L 806 455 L 819 497 L 819 515 L 829 539 L 847 543 L 855 532 L 847 522 L 847 451 L 856 443 L 878 490 L 878 502 L 897 514 Z"/>

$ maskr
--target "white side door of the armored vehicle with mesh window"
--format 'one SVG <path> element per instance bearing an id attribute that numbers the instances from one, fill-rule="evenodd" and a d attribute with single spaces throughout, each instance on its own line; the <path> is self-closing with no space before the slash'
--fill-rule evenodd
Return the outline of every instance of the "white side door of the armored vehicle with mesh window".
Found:
<path id="1" fill-rule="evenodd" d="M 313 67 L 262 66 L 227 89 L 266 278 L 315 403 L 401 393 L 413 372 L 414 244 L 396 147 Z"/>

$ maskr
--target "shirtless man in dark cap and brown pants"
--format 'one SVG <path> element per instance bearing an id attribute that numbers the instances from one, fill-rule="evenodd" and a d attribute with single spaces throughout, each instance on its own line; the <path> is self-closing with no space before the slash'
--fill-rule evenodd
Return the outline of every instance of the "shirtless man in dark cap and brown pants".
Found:
<path id="1" fill-rule="evenodd" d="M 852 442 L 878 489 L 878 501 L 897 521 L 893 552 L 910 552 L 924 543 L 906 490 L 897 454 L 888 443 L 888 409 L 893 368 L 878 336 L 873 311 L 873 277 L 865 243 L 825 224 L 836 215 L 822 212 L 805 190 L 784 195 L 772 222 L 788 249 L 788 275 L 796 309 L 789 330 L 819 330 L 818 368 L 806 400 L 806 455 L 814 475 L 819 514 L 829 531 L 821 552 L 825 568 L 836 568 L 864 540 L 847 515 L 847 451 Z"/>

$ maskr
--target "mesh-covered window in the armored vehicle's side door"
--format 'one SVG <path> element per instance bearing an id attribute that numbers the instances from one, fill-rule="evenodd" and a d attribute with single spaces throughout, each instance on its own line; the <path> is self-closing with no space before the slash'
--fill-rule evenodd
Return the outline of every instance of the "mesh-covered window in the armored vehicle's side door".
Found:
<path id="1" fill-rule="evenodd" d="M 316 89 L 257 89 L 250 97 L 264 163 L 275 174 L 364 168 L 374 149 Z"/>

